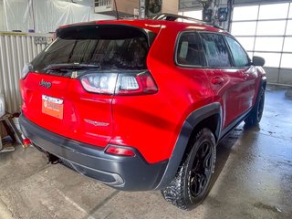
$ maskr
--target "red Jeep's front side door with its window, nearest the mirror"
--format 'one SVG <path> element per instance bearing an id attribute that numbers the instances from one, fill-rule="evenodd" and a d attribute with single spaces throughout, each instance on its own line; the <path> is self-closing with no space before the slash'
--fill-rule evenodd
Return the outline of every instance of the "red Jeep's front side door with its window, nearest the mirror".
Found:
<path id="1" fill-rule="evenodd" d="M 239 76 L 243 78 L 238 85 L 241 89 L 241 93 L 237 98 L 239 113 L 244 114 L 255 102 L 257 71 L 255 67 L 250 64 L 251 62 L 245 49 L 241 47 L 235 38 L 232 36 L 224 37 L 234 60 L 236 74 L 239 74 Z"/>

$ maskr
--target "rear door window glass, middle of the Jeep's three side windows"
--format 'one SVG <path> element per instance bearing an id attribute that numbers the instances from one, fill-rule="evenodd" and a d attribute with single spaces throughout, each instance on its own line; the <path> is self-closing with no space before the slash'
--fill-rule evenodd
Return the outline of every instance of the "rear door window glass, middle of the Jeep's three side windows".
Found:
<path id="1" fill-rule="evenodd" d="M 217 34 L 201 34 L 209 67 L 230 67 L 231 61 L 224 38 Z"/>

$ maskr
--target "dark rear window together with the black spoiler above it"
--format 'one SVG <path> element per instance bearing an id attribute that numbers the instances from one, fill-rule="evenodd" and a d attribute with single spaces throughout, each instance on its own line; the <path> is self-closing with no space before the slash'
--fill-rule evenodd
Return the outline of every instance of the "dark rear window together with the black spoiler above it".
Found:
<path id="1" fill-rule="evenodd" d="M 133 26 L 72 26 L 33 61 L 36 72 L 54 65 L 90 65 L 101 70 L 146 69 L 150 43 L 147 32 Z M 55 72 L 56 73 L 56 72 Z"/>

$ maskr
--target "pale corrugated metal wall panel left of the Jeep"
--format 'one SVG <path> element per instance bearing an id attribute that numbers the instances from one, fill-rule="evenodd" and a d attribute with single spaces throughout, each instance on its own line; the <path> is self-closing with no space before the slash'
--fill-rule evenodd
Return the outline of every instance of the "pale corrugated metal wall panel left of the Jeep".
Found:
<path id="1" fill-rule="evenodd" d="M 18 80 L 22 68 L 47 47 L 52 37 L 49 34 L 0 32 L 0 92 L 5 96 L 7 112 L 20 111 Z"/>

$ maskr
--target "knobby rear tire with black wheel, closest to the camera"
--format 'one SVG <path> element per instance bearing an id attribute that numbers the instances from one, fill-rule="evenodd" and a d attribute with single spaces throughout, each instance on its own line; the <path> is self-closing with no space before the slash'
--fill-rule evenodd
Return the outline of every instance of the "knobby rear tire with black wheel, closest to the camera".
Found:
<path id="1" fill-rule="evenodd" d="M 183 210 L 192 210 L 203 202 L 210 189 L 216 158 L 215 139 L 211 130 L 200 130 L 191 143 L 192 150 L 172 182 L 162 190 L 167 202 Z"/>

